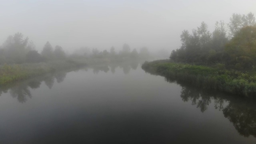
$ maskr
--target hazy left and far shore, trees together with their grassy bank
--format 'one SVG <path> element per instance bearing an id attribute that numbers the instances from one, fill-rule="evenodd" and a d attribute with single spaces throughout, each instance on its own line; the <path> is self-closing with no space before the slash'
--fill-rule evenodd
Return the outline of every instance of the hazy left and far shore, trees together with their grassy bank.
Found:
<path id="1" fill-rule="evenodd" d="M 81 49 L 76 52 L 78 54 L 67 55 L 61 46 L 53 48 L 50 42 L 46 42 L 40 53 L 35 48 L 33 42 L 19 32 L 6 39 L 0 46 L 0 85 L 86 64 L 139 62 L 150 57 L 147 48 L 131 51 L 128 44 L 124 44 L 119 53 L 112 47 L 110 52 L 93 48 L 92 51 Z"/>

